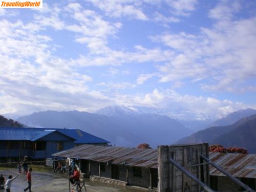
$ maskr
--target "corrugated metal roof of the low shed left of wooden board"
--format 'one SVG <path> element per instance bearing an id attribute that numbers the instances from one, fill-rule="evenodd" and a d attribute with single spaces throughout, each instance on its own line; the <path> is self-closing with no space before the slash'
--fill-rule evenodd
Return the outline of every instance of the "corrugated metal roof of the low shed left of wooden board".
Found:
<path id="1" fill-rule="evenodd" d="M 87 159 L 112 164 L 157 168 L 157 150 L 145 148 L 81 145 L 53 156 Z"/>

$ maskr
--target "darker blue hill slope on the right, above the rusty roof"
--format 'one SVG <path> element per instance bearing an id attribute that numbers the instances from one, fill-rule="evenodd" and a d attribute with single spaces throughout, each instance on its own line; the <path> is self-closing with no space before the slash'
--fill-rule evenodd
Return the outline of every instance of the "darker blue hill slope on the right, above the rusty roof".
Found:
<path id="1" fill-rule="evenodd" d="M 256 153 L 256 115 L 244 117 L 227 126 L 214 126 L 180 139 L 177 143 L 221 144 L 225 147 L 245 147 Z"/>

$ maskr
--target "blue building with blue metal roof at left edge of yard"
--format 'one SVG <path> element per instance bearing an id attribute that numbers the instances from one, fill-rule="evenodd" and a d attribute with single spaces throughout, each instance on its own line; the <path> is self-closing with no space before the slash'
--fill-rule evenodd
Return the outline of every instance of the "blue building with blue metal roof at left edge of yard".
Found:
<path id="1" fill-rule="evenodd" d="M 108 145 L 109 141 L 78 129 L 0 127 L 0 162 L 33 160 L 81 144 Z"/>

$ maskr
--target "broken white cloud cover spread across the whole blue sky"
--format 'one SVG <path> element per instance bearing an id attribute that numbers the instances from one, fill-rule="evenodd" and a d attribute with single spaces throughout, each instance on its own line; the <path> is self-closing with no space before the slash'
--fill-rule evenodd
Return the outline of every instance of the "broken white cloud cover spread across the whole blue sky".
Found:
<path id="1" fill-rule="evenodd" d="M 118 32 L 125 24 L 120 20 L 126 17 L 150 22 L 148 18 L 152 17 L 145 14 L 148 13 L 145 8 L 153 4 L 159 8 L 163 2 L 92 0 L 86 5 L 88 2 L 96 8 L 90 10 L 89 6 L 83 8 L 83 4 L 78 3 L 69 3 L 66 9 L 62 3 L 46 4 L 44 9 L 32 10 L 36 12 L 33 22 L 0 20 L 0 113 L 49 109 L 90 111 L 108 104 L 124 104 L 168 107 L 171 115 L 178 114 L 176 117 L 182 118 L 194 113 L 198 119 L 218 118 L 245 105 L 212 97 L 180 95 L 173 90 L 155 89 L 152 93 L 143 93 L 142 89 L 136 93 L 136 88 L 157 77 L 159 82 L 172 81 L 169 86 L 173 89 L 191 81 L 200 83 L 206 91 L 256 90 L 253 86 L 241 86 L 256 75 L 256 18 L 238 19 L 234 16 L 241 10 L 236 2 L 231 6 L 221 3 L 209 11 L 208 16 L 215 23 L 201 28 L 198 34 L 169 31 L 151 36 L 151 48 L 134 42 L 136 46 L 129 51 L 126 47 L 114 49 L 116 45 L 109 45 L 112 38 L 118 38 Z M 180 16 L 188 16 L 197 6 L 195 0 L 165 2 L 171 13 L 165 16 L 157 9 L 159 12 L 153 15 L 155 20 L 151 24 L 178 23 Z M 0 15 L 7 16 L 6 11 L 0 10 Z M 68 33 L 74 44 L 82 44 L 78 49 L 84 46 L 86 51 L 79 50 L 78 57 L 72 54 L 70 58 L 57 56 L 60 45 L 55 45 L 54 35 L 50 36 L 48 29 L 57 35 Z M 160 47 L 155 45 L 158 43 Z M 128 71 L 121 68 L 123 64 L 144 65 L 143 68 L 151 67 L 149 71 L 156 67 L 157 71 L 146 74 L 139 69 L 141 71 L 134 73 L 132 65 L 126 68 Z M 101 83 L 92 86 L 99 89 L 95 91 L 89 85 L 95 80 L 94 67 L 100 66 L 97 68 L 99 73 L 110 79 L 105 82 L 97 79 Z M 127 74 L 139 75 L 130 82 L 111 79 Z M 134 95 L 122 93 L 129 89 Z"/>

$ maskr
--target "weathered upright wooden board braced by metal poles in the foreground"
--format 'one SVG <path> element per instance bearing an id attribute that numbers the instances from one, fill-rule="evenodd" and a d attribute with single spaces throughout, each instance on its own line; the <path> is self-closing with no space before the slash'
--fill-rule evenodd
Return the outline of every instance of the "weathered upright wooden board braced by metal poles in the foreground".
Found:
<path id="1" fill-rule="evenodd" d="M 209 186 L 209 164 L 203 163 L 201 154 L 205 157 L 209 156 L 208 143 L 158 146 L 158 191 L 202 191 L 200 184 L 184 174 L 175 166 L 176 163 Z"/>

